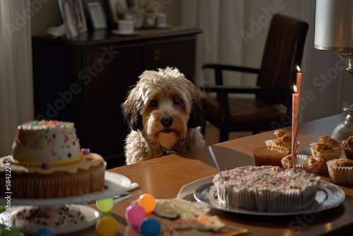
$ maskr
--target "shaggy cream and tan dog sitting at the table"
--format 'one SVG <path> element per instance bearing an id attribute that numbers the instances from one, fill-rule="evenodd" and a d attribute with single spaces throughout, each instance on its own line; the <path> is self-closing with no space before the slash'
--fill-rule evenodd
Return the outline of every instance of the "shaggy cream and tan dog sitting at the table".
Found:
<path id="1" fill-rule="evenodd" d="M 126 165 L 205 146 L 198 90 L 178 69 L 144 71 L 121 105 Z"/>

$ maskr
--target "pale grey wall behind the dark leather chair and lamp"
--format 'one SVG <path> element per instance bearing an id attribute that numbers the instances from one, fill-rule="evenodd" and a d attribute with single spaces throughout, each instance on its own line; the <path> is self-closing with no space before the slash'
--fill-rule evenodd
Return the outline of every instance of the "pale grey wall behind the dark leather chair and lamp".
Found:
<path id="1" fill-rule="evenodd" d="M 244 20 L 244 30 L 249 31 L 251 20 L 257 22 L 259 17 L 268 14 L 269 9 L 270 13 L 273 13 L 275 6 L 280 6 L 280 10 L 276 10 L 276 13 L 301 18 L 309 23 L 301 62 L 303 73 L 301 122 L 343 112 L 342 107 L 353 102 L 353 94 L 351 93 L 353 79 L 345 69 L 342 70 L 342 67 L 345 67 L 343 63 L 347 64 L 347 60 L 343 59 L 340 54 L 320 51 L 313 47 L 315 0 L 246 0 L 244 1 L 244 18 L 242 19 Z M 243 44 L 242 66 L 260 67 L 268 26 L 269 23 L 263 26 L 260 33 L 249 39 L 248 45 Z"/>

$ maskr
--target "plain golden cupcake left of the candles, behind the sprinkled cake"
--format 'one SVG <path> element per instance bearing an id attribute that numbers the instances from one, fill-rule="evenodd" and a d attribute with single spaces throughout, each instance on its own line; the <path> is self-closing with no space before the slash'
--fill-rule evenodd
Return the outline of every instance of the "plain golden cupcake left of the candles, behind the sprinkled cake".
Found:
<path id="1" fill-rule="evenodd" d="M 282 167 L 281 159 L 288 155 L 287 148 L 263 146 L 253 150 L 255 165 L 276 165 Z"/>

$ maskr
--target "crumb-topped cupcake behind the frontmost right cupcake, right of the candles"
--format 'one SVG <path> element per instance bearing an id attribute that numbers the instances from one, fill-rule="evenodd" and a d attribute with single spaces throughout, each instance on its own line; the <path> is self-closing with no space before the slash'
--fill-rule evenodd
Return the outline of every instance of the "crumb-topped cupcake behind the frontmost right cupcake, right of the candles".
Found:
<path id="1" fill-rule="evenodd" d="M 342 153 L 340 142 L 330 136 L 320 136 L 317 143 L 311 143 L 310 149 L 314 158 L 323 159 L 323 165 L 318 171 L 321 174 L 328 174 L 328 167 L 325 163 L 328 160 L 340 158 Z"/>

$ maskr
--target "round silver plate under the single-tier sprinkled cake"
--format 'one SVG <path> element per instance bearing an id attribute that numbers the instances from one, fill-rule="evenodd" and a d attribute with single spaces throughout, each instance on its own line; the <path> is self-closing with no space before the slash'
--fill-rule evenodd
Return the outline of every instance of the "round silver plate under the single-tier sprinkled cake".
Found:
<path id="1" fill-rule="evenodd" d="M 196 201 L 203 203 L 206 206 L 217 208 L 218 210 L 222 211 L 258 216 L 289 216 L 304 213 L 316 213 L 340 206 L 342 201 L 345 200 L 345 192 L 340 189 L 340 187 L 337 187 L 335 184 L 321 181 L 318 193 L 316 194 L 316 202 L 311 204 L 311 206 L 305 209 L 301 209 L 299 211 L 275 213 L 251 211 L 241 208 L 235 208 L 232 206 L 225 206 L 217 200 L 216 189 L 212 182 L 202 184 L 201 186 L 196 188 L 196 190 L 194 191 L 194 197 Z"/>

